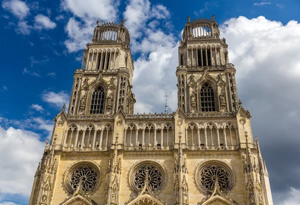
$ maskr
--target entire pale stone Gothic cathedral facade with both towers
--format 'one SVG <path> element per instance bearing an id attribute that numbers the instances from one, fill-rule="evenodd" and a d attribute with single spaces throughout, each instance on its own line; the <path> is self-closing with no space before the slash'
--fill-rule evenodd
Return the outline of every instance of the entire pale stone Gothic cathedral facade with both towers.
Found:
<path id="1" fill-rule="evenodd" d="M 214 16 L 187 17 L 174 113 L 133 114 L 129 44 L 124 20 L 97 21 L 68 110 L 54 118 L 29 205 L 273 204 Z"/>

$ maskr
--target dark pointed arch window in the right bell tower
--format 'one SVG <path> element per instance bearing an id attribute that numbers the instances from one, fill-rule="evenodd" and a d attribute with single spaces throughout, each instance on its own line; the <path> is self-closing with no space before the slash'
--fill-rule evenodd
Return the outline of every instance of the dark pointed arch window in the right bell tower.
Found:
<path id="1" fill-rule="evenodd" d="M 215 111 L 213 89 L 208 82 L 201 86 L 200 101 L 201 111 Z"/>

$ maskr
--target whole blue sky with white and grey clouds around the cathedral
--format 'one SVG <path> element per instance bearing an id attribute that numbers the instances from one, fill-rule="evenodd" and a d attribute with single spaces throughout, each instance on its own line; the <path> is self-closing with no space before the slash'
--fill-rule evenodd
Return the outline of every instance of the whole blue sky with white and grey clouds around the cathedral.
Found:
<path id="1" fill-rule="evenodd" d="M 96 20 L 125 18 L 136 112 L 176 110 L 186 16 L 215 14 L 252 114 L 274 204 L 300 201 L 300 3 L 295 0 L 3 0 L 0 6 L 0 205 L 27 204 L 53 117 L 68 103 Z"/>

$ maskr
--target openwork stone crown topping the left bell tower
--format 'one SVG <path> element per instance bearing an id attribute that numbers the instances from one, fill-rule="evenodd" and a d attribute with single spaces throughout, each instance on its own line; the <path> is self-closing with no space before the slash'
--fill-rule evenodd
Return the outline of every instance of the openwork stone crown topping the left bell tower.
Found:
<path id="1" fill-rule="evenodd" d="M 106 22 L 102 23 L 97 20 L 97 26 L 94 29 L 92 43 L 121 43 L 129 47 L 130 37 L 127 28 L 124 26 L 125 19 L 121 23 Z"/>

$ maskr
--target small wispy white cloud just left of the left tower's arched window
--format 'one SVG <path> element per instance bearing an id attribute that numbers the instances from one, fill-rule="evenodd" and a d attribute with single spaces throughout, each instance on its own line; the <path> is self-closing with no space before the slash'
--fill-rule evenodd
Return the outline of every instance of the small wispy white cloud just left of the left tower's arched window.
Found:
<path id="1" fill-rule="evenodd" d="M 49 104 L 61 107 L 64 103 L 66 106 L 68 105 L 69 95 L 65 91 L 60 91 L 56 93 L 53 91 L 45 90 L 41 94 L 41 98 L 43 101 L 48 102 Z"/>

